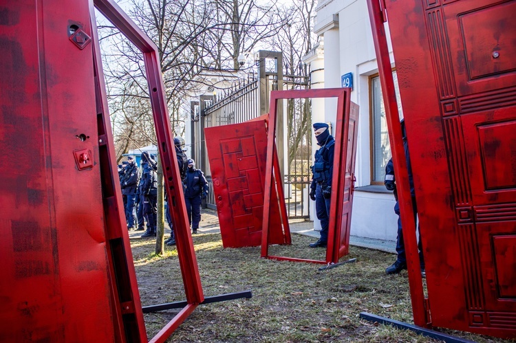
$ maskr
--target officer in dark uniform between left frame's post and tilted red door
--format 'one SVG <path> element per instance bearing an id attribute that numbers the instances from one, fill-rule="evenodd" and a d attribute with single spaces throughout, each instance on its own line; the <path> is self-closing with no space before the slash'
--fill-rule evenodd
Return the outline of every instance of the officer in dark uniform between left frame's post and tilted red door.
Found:
<path id="1" fill-rule="evenodd" d="M 208 181 L 200 169 L 195 169 L 193 159 L 188 159 L 188 171 L 186 172 L 184 189 L 184 201 L 188 219 L 192 225 L 192 232 L 197 233 L 201 221 L 201 199 L 208 196 Z"/>

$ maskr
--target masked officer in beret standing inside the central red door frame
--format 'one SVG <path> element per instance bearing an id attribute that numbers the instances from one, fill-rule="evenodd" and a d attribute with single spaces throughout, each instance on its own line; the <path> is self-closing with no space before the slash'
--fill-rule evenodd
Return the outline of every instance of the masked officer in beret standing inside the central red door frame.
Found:
<path id="1" fill-rule="evenodd" d="M 332 197 L 332 173 L 335 140 L 330 135 L 328 124 L 314 123 L 314 134 L 317 145 L 321 146 L 315 152 L 312 166 L 312 184 L 310 199 L 315 201 L 317 218 L 321 221 L 321 237 L 310 247 L 326 247 L 328 240 L 328 224 L 330 223 L 330 201 Z"/>

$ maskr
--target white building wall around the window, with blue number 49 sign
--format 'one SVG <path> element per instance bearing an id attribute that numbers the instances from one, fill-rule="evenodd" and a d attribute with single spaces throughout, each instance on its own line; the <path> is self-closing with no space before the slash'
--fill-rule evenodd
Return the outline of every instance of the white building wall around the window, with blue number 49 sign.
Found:
<path id="1" fill-rule="evenodd" d="M 382 192 L 383 188 L 380 188 L 380 192 L 372 192 L 372 187 L 369 186 L 371 184 L 369 76 L 378 73 L 378 65 L 367 2 L 365 0 L 320 0 L 316 8 L 314 31 L 324 38 L 325 88 L 341 87 L 341 76 L 352 72 L 352 101 L 360 106 L 355 169 L 355 187 L 358 189 L 354 192 L 351 234 L 396 241 L 398 216 L 394 213 L 394 196 L 387 190 Z M 335 41 L 336 39 L 338 41 Z M 338 78 L 337 85 L 336 78 Z M 334 107 L 328 106 L 327 103 L 325 119 L 334 124 L 335 113 Z"/>

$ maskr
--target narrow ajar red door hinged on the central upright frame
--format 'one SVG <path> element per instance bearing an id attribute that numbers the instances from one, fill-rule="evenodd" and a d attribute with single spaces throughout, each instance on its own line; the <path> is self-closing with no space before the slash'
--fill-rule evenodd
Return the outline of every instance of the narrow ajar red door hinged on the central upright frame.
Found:
<path id="1" fill-rule="evenodd" d="M 350 250 L 350 229 L 351 212 L 353 206 L 353 192 L 355 181 L 355 157 L 356 139 L 358 137 L 358 105 L 346 97 L 345 108 L 349 108 L 350 115 L 344 118 L 337 118 L 336 123 L 336 144 L 334 170 L 341 170 L 336 173 L 333 179 L 332 189 L 336 189 L 336 197 L 332 197 L 330 208 L 336 208 L 336 216 L 330 218 L 330 231 L 328 241 L 332 242 L 334 249 L 326 251 L 328 261 L 338 261 L 342 256 L 347 255 Z M 346 129 L 347 128 L 347 129 Z M 346 151 L 344 154 L 343 151 Z M 338 166 L 338 167 L 336 167 Z M 344 173 L 342 173 L 342 170 Z M 334 232 L 334 236 L 332 233 Z"/>

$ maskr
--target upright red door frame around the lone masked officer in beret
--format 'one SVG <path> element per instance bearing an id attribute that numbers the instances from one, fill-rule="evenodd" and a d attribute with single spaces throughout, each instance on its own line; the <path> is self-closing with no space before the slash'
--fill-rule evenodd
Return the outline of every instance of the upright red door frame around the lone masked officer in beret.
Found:
<path id="1" fill-rule="evenodd" d="M 310 260 L 306 258 L 293 258 L 286 256 L 271 256 L 268 254 L 268 230 L 269 230 L 269 217 L 270 211 L 268 206 L 264 206 L 264 220 L 263 227 L 261 229 L 261 257 L 270 258 L 273 260 L 279 261 L 293 261 L 293 262 L 308 262 L 308 263 L 319 263 L 319 264 L 330 264 L 338 262 L 338 252 L 339 246 L 336 245 L 336 219 L 338 209 L 336 208 L 338 201 L 340 201 L 343 197 L 341 194 L 341 177 L 345 177 L 345 175 L 341 175 L 341 168 L 343 164 L 345 165 L 345 159 L 342 159 L 343 154 L 343 142 L 347 141 L 347 126 L 349 124 L 350 116 L 346 115 L 346 109 L 349 111 L 350 109 L 350 93 L 351 89 L 349 88 L 330 88 L 330 89 L 303 89 L 303 90 L 292 90 L 292 91 L 271 91 L 270 92 L 270 113 L 269 113 L 269 131 L 268 131 L 268 140 L 267 140 L 267 162 L 266 162 L 266 178 L 265 178 L 265 187 L 264 187 L 264 203 L 270 203 L 270 192 L 273 189 L 283 191 L 283 184 L 281 182 L 281 178 L 277 177 L 279 173 L 272 173 L 273 162 L 277 164 L 276 157 L 276 115 L 277 115 L 277 100 L 282 99 L 303 99 L 303 98 L 337 98 L 337 117 L 336 117 L 336 137 L 335 137 L 335 154 L 334 154 L 334 166 L 338 166 L 338 168 L 334 168 L 334 177 L 332 179 L 332 189 L 338 190 L 334 192 L 332 195 L 332 201 L 330 206 L 330 223 L 329 223 L 329 232 L 328 232 L 328 242 L 327 242 L 327 250 L 326 250 L 326 259 L 325 261 L 321 260 Z M 274 161 L 273 161 L 274 159 Z M 344 162 L 343 162 L 344 160 Z M 270 171 L 269 171 L 270 170 Z M 279 170 L 279 166 L 277 166 L 276 170 Z M 335 174 L 336 173 L 336 174 Z M 272 183 L 272 177 L 275 177 L 275 184 Z M 280 198 L 283 199 L 283 198 Z M 350 210 L 351 216 L 351 210 Z M 351 220 L 351 218 L 350 218 Z M 349 231 L 347 235 L 349 236 Z M 349 242 L 349 238 L 345 239 L 346 242 Z"/>

